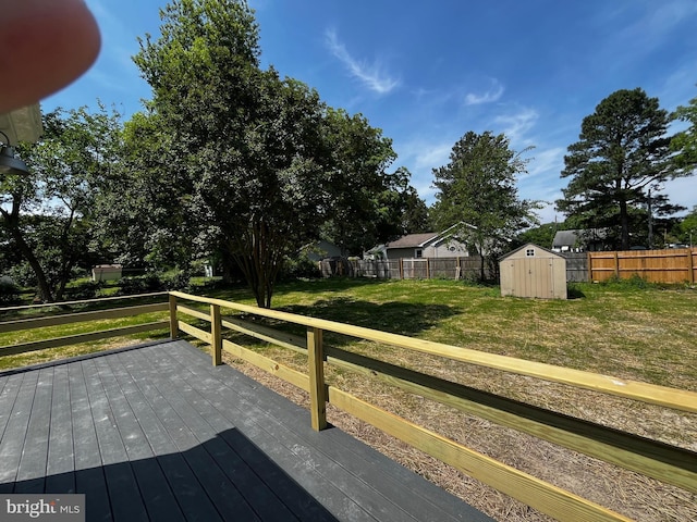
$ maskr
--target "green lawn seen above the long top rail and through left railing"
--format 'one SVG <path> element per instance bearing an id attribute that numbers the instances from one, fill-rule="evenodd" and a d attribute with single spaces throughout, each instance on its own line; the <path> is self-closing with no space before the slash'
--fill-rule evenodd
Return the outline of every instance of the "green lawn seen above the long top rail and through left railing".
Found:
<path id="1" fill-rule="evenodd" d="M 198 293 L 255 303 L 244 288 Z M 697 389 L 697 290 L 636 284 L 574 284 L 570 294 L 573 298 L 564 301 L 518 299 L 500 297 L 498 287 L 454 281 L 331 278 L 280 284 L 273 308 L 623 378 Z M 119 320 L 113 326 L 160 318 L 162 314 Z M 86 327 L 81 324 L 0 334 L 0 346 L 70 335 Z M 139 337 L 143 338 L 144 335 Z M 113 340 L 107 340 L 97 348 L 113 345 Z M 71 355 L 74 352 L 70 350 Z M 0 360 L 0 368 L 32 361 L 32 356 L 25 355 L 21 359 Z"/>

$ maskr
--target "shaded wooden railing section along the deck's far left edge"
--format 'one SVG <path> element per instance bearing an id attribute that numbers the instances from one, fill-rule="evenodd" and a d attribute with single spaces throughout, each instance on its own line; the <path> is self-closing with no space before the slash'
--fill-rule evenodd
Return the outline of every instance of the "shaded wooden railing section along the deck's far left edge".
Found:
<path id="1" fill-rule="evenodd" d="M 169 309 L 169 302 L 167 300 L 167 293 L 156 293 L 156 294 L 142 294 L 137 296 L 124 296 L 124 297 L 108 297 L 101 299 L 89 299 L 82 301 L 65 301 L 59 303 L 47 303 L 47 304 L 30 304 L 26 307 L 11 307 L 11 308 L 2 308 L 0 312 L 12 312 L 14 314 L 19 314 L 23 311 L 27 310 L 36 310 L 40 312 L 40 309 L 56 308 L 59 307 L 61 309 L 70 309 L 71 307 L 89 307 L 91 304 L 103 304 L 105 302 L 110 301 L 129 301 L 129 300 L 139 300 L 143 301 L 145 299 L 155 298 L 159 302 L 152 302 L 147 304 L 136 304 L 123 308 L 112 308 L 108 310 L 94 310 L 94 311 L 85 311 L 85 312 L 75 312 L 75 313 L 51 313 L 44 316 L 38 318 L 27 318 L 27 319 L 13 319 L 10 321 L 0 322 L 0 334 L 11 333 L 11 332 L 26 332 L 35 328 L 47 328 L 50 326 L 63 326 L 66 324 L 73 323 L 91 323 L 94 321 L 101 320 L 113 320 L 119 318 L 131 318 L 134 315 L 139 315 L 144 313 L 152 313 L 152 312 L 162 312 Z M 170 322 L 167 320 L 163 321 L 154 321 L 147 323 L 139 323 L 129 326 L 122 326 L 118 328 L 108 328 L 108 330 L 97 330 L 87 333 L 80 333 L 75 335 L 66 335 L 61 337 L 53 337 L 48 339 L 40 340 L 27 340 L 24 341 L 21 339 L 19 343 L 13 343 L 8 346 L 0 346 L 0 356 L 12 356 L 17 353 L 24 353 L 27 351 L 34 350 L 45 350 L 48 348 L 58 348 L 61 346 L 71 346 L 77 345 L 81 343 L 91 343 L 94 340 L 107 339 L 110 337 L 120 337 L 125 335 L 139 334 L 144 332 L 151 332 L 155 330 L 163 330 L 168 328 Z"/>

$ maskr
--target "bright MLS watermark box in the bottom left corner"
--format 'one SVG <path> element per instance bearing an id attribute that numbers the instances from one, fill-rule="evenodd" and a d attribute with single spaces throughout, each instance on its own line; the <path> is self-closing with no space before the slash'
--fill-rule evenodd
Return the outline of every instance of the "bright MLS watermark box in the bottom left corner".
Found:
<path id="1" fill-rule="evenodd" d="M 85 495 L 0 495 L 0 522 L 85 522 Z"/>

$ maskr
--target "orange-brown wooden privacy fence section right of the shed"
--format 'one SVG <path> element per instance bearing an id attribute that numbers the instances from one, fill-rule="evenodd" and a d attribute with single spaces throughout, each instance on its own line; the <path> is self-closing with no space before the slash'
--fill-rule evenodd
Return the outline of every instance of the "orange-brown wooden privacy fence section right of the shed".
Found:
<path id="1" fill-rule="evenodd" d="M 694 284 L 697 281 L 697 248 L 588 252 L 590 281 L 633 276 L 649 283 Z"/>

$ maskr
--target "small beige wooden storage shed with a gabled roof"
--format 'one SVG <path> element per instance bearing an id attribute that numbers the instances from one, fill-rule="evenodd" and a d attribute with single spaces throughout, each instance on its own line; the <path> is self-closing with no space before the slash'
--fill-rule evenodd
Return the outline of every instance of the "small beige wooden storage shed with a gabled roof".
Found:
<path id="1" fill-rule="evenodd" d="M 566 299 L 566 259 L 531 243 L 499 259 L 501 295 Z"/>

